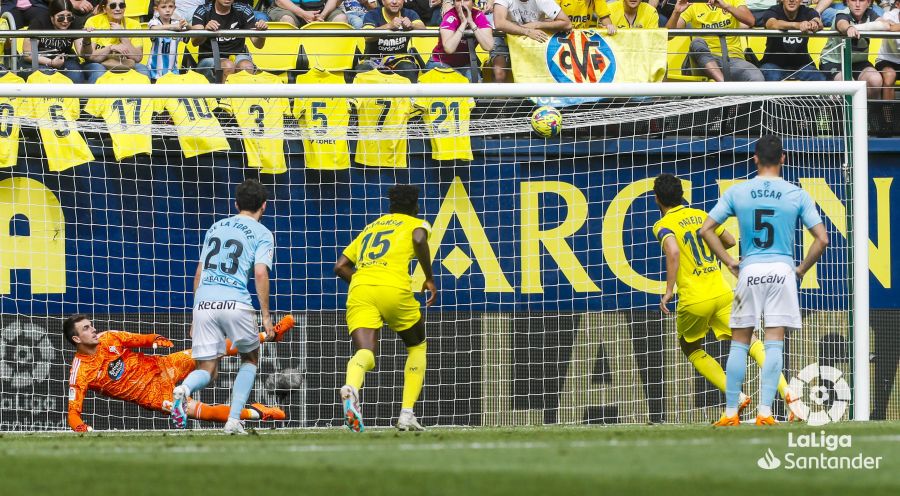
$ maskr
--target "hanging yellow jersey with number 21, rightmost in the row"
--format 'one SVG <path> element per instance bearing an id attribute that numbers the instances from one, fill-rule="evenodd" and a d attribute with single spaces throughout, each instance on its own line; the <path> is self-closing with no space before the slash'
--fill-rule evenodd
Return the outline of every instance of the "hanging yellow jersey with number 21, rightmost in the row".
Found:
<path id="1" fill-rule="evenodd" d="M 419 77 L 419 83 L 468 83 L 465 76 L 448 67 L 432 69 Z M 472 160 L 469 119 L 472 98 L 416 98 L 423 110 L 422 119 L 431 136 L 431 158 L 435 160 Z"/>

